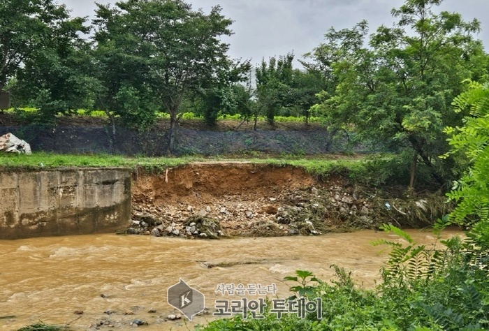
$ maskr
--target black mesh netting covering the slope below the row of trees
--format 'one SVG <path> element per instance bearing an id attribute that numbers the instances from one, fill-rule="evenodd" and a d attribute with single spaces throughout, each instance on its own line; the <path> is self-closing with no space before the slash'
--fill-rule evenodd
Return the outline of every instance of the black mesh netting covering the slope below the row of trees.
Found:
<path id="1" fill-rule="evenodd" d="M 167 131 L 138 132 L 107 126 L 0 126 L 0 135 L 11 132 L 26 140 L 33 151 L 60 154 L 124 154 L 161 156 L 168 147 Z M 352 146 L 344 134 L 330 135 L 325 129 L 309 131 L 196 131 L 179 128 L 175 154 L 224 155 L 245 152 L 274 154 L 322 154 L 372 152 Z"/>

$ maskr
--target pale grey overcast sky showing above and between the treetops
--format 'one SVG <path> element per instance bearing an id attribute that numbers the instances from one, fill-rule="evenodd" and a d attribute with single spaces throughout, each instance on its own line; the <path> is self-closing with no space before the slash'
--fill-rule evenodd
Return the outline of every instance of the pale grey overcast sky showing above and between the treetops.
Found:
<path id="1" fill-rule="evenodd" d="M 92 0 L 58 0 L 73 10 L 72 15 L 94 15 Z M 115 3 L 115 0 L 98 0 L 98 3 Z M 306 52 L 324 41 L 330 27 L 353 27 L 360 20 L 369 22 L 374 32 L 380 24 L 391 27 L 395 21 L 391 9 L 399 8 L 403 0 L 187 0 L 194 9 L 206 13 L 219 4 L 223 14 L 235 21 L 229 55 L 235 59 L 251 59 L 257 64 L 262 58 L 293 52 L 301 58 Z M 437 9 L 438 10 L 438 9 Z M 489 47 L 489 0 L 445 0 L 439 10 L 462 14 L 466 21 L 481 21 L 479 34 Z"/>

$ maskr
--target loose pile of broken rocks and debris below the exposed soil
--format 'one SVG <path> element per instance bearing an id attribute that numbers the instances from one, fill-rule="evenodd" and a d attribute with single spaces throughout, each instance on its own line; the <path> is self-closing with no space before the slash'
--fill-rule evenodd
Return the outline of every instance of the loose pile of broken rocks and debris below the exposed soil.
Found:
<path id="1" fill-rule="evenodd" d="M 132 226 L 125 233 L 208 239 L 320 235 L 378 226 L 369 214 L 370 203 L 359 193 L 346 192 L 342 186 L 312 187 L 257 199 L 222 196 L 197 206 L 135 203 Z"/>

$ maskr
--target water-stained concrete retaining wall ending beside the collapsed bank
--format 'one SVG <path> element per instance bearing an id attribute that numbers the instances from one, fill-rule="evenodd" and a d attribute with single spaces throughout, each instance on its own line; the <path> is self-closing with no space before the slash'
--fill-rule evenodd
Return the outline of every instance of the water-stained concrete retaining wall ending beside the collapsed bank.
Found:
<path id="1" fill-rule="evenodd" d="M 112 232 L 131 221 L 131 170 L 0 170 L 0 239 Z"/>

